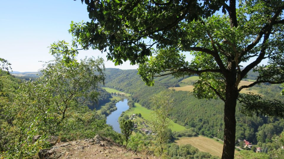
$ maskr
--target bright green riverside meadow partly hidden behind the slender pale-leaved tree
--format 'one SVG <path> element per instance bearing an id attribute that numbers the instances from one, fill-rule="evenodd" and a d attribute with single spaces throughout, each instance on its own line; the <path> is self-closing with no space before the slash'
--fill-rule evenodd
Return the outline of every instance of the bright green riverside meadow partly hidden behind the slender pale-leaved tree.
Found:
<path id="1" fill-rule="evenodd" d="M 134 104 L 134 107 L 130 108 L 129 110 L 125 111 L 124 114 L 127 114 L 128 116 L 132 115 L 132 114 L 138 114 L 138 113 L 141 113 L 141 116 L 142 116 L 142 119 L 141 118 L 136 118 L 135 120 L 137 120 L 138 122 L 140 122 L 141 120 L 150 120 L 151 116 L 150 116 L 150 113 L 151 113 L 151 110 L 145 108 L 145 107 L 142 107 L 140 104 L 138 103 L 135 103 Z M 135 121 L 134 120 L 134 121 Z M 170 129 L 172 129 L 172 131 L 182 131 L 182 130 L 185 130 L 185 127 L 182 126 L 182 125 L 179 125 L 175 122 L 173 122 L 172 120 L 170 121 L 170 126 L 169 126 Z"/>

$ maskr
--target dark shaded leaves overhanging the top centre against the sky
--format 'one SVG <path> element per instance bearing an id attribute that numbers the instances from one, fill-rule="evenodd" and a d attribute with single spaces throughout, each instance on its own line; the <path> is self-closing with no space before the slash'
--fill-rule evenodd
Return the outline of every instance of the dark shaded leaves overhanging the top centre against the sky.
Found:
<path id="1" fill-rule="evenodd" d="M 157 48 L 176 45 L 183 36 L 180 21 L 192 21 L 198 15 L 209 16 L 224 1 L 94 1 L 81 0 L 88 5 L 91 22 L 72 22 L 69 32 L 83 47 L 108 50 L 107 58 L 115 64 L 130 60 L 144 62 Z M 96 4 L 96 5 L 94 5 Z M 149 12 L 150 11 L 150 12 Z M 149 36 L 153 35 L 153 36 Z M 144 40 L 149 37 L 151 43 Z M 91 40 L 90 40 L 91 39 Z"/>

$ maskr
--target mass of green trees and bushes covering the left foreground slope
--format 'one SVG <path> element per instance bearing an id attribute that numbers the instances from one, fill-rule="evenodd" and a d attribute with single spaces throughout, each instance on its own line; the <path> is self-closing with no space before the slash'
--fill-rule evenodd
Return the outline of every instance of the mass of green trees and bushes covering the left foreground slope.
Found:
<path id="1" fill-rule="evenodd" d="M 41 70 L 42 75 L 23 82 L 17 92 L 14 77 L 0 77 L 0 147 L 4 158 L 33 158 L 48 146 L 49 135 L 65 141 L 100 134 L 122 141 L 120 134 L 85 105 L 85 100 L 94 101 L 99 95 L 96 88 L 104 82 L 103 60 L 77 62 L 54 55 Z M 35 135 L 42 137 L 34 142 Z"/>

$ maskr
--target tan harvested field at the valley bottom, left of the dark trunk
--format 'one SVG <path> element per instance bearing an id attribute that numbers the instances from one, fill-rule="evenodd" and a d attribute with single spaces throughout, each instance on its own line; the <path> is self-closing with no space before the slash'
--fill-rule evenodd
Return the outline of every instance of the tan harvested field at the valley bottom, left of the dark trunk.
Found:
<path id="1" fill-rule="evenodd" d="M 222 157 L 223 144 L 215 141 L 215 139 L 206 138 L 205 136 L 178 138 L 175 140 L 178 145 L 191 144 L 198 150 L 208 152 L 211 155 Z M 235 151 L 239 155 L 238 151 Z"/>

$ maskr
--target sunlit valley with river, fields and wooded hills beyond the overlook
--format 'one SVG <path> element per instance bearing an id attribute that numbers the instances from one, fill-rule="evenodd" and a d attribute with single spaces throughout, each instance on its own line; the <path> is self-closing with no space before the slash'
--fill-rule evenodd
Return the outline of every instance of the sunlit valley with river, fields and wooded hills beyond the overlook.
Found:
<path id="1" fill-rule="evenodd" d="M 20 76 L 21 78 L 30 78 L 29 74 Z M 137 124 L 136 130 L 151 130 L 151 102 L 149 97 L 163 90 L 172 89 L 174 98 L 174 109 L 170 112 L 170 126 L 172 143 L 178 145 L 190 144 L 201 152 L 207 152 L 214 156 L 222 155 L 222 141 L 216 141 L 214 138 L 223 138 L 223 104 L 220 100 L 196 99 L 193 94 L 193 84 L 199 79 L 198 76 L 173 78 L 171 76 L 157 77 L 155 85 L 148 87 L 140 80 L 136 70 L 106 69 L 106 83 L 101 85 L 98 102 L 87 102 L 90 109 L 95 109 L 98 115 L 106 119 L 106 124 L 112 125 L 115 131 L 120 132 L 119 121 L 121 118 L 135 114 L 131 121 Z M 118 80 L 120 79 L 120 80 Z M 123 79 L 123 80 L 121 80 Z M 241 81 L 240 85 L 249 85 L 253 82 L 251 79 Z M 279 85 L 256 85 L 248 90 L 254 94 L 262 95 L 263 98 L 276 97 L 279 100 L 284 98 L 277 92 L 282 88 Z M 243 93 L 243 92 L 241 92 Z M 122 102 L 122 100 L 124 102 Z M 128 102 L 133 102 L 129 107 Z M 119 103 L 124 103 L 123 110 L 120 110 Z M 132 105 L 132 104 L 131 104 Z M 241 105 L 238 104 L 238 110 Z M 118 113 L 116 113 L 116 111 Z M 141 117 L 137 117 L 137 114 Z M 112 117 L 114 115 L 115 117 Z M 284 127 L 282 118 L 272 118 L 264 116 L 246 116 L 237 111 L 237 139 L 246 139 L 253 145 L 272 150 L 274 138 L 268 136 L 267 131 L 279 134 Z M 141 124 L 145 122 L 145 124 Z M 147 127 L 146 127 L 147 125 Z M 133 136 L 141 131 L 133 132 Z M 143 134 L 143 133 L 142 133 Z M 190 137 L 186 137 L 184 135 Z M 198 136 L 197 136 L 198 135 Z M 178 137 L 177 137 L 178 136 Z M 237 143 L 239 145 L 241 143 Z M 235 151 L 235 158 L 242 156 L 253 156 L 248 150 Z"/>

